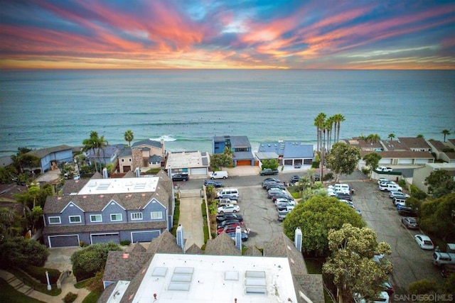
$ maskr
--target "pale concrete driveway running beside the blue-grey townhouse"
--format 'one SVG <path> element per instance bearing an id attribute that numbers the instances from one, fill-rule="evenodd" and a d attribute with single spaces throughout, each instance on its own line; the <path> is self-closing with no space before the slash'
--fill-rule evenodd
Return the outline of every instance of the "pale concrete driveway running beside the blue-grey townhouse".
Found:
<path id="1" fill-rule="evenodd" d="M 188 249 L 196 244 L 201 248 L 204 245 L 204 231 L 200 189 L 181 191 L 180 197 L 178 224 L 183 226 L 183 238 L 186 239 L 185 247 Z"/>

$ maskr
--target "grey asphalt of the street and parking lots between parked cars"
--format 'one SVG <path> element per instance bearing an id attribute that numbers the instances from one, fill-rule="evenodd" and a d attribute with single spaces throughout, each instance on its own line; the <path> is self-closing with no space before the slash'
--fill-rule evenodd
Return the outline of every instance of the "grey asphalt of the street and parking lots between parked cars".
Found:
<path id="1" fill-rule="evenodd" d="M 282 181 L 289 181 L 296 172 L 280 172 L 278 177 Z M 277 211 L 260 184 L 266 177 L 259 175 L 233 176 L 222 180 L 224 187 L 237 187 L 240 192 L 240 213 L 245 217 L 247 227 L 251 228 L 248 245 L 262 247 L 262 243 L 271 241 L 274 236 L 282 232 L 281 223 L 277 220 Z M 189 180 L 178 182 L 181 189 L 196 189 L 202 186 L 203 180 Z M 387 192 L 381 192 L 378 184 L 372 180 L 365 180 L 361 172 L 354 172 L 349 176 L 341 176 L 340 182 L 348 183 L 355 189 L 353 203 L 362 211 L 362 216 L 368 227 L 378 235 L 378 241 L 385 241 L 392 248 L 389 256 L 394 270 L 391 273 L 395 295 L 407 294 L 409 285 L 422 279 L 444 282 L 439 269 L 432 265 L 432 251 L 422 250 L 414 241 L 414 235 L 422 233 L 419 230 L 408 230 L 401 224 L 392 200 Z M 392 300 L 398 297 L 392 295 Z"/>

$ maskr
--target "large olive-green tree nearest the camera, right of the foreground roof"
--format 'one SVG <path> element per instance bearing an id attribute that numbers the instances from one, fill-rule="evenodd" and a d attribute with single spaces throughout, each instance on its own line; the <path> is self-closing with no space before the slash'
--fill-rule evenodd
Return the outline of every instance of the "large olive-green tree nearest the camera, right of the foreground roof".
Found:
<path id="1" fill-rule="evenodd" d="M 352 294 L 373 301 L 388 280 L 390 263 L 375 262 L 375 254 L 390 255 L 392 250 L 385 242 L 378 243 L 375 231 L 343 224 L 328 233 L 331 256 L 323 264 L 323 273 L 333 277 L 339 302 L 352 302 Z"/>

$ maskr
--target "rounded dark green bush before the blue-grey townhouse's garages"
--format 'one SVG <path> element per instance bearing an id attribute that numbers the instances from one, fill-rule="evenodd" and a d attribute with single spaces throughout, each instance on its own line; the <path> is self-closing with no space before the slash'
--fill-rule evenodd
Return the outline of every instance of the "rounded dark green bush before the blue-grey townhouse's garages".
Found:
<path id="1" fill-rule="evenodd" d="M 121 250 L 121 248 L 114 242 L 96 243 L 73 253 L 71 263 L 73 263 L 73 273 L 77 281 L 94 277 L 97 272 L 104 270 L 109 250 Z"/>

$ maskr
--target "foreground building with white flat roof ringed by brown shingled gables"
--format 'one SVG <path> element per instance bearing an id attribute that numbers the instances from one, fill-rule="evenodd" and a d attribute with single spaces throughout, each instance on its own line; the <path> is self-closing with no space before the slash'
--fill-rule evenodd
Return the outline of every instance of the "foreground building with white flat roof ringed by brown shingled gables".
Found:
<path id="1" fill-rule="evenodd" d="M 282 233 L 262 252 L 223 232 L 203 251 L 186 248 L 178 226 L 177 237 L 165 231 L 148 248 L 109 251 L 98 302 L 323 303 L 322 275 L 306 270 L 299 228 L 295 238 Z"/>

